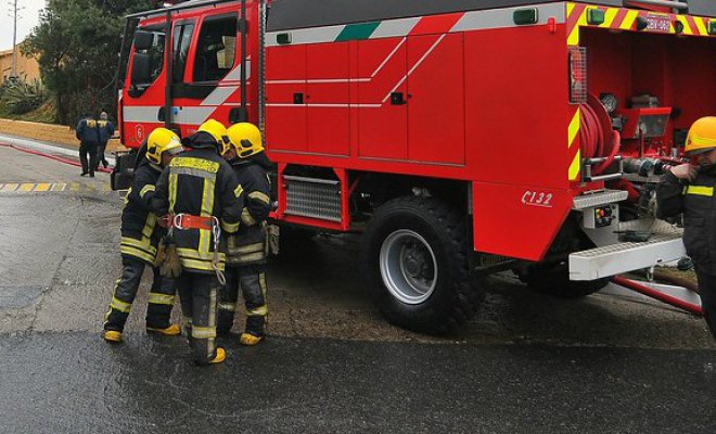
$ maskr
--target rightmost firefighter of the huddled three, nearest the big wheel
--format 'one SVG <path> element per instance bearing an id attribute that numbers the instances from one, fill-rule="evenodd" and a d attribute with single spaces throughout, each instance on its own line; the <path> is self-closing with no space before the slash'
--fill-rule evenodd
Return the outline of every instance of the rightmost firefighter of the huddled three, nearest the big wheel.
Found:
<path id="1" fill-rule="evenodd" d="M 239 231 L 227 239 L 227 284 L 219 304 L 219 333 L 227 334 L 233 324 L 239 289 L 246 307 L 246 327 L 242 345 L 256 345 L 264 337 L 268 308 L 264 264 L 268 253 L 266 219 L 270 210 L 270 166 L 264 153 L 261 133 L 255 125 L 241 123 L 228 130 L 230 146 L 223 157 L 231 164 L 243 188 L 244 209 Z"/>

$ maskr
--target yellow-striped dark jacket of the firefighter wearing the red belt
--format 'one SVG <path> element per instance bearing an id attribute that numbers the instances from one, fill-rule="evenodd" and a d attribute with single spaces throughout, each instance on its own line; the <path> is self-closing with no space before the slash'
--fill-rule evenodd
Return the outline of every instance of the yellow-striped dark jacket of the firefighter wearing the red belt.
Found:
<path id="1" fill-rule="evenodd" d="M 210 144 L 212 140 L 203 132 L 187 140 L 191 149 L 176 156 L 162 173 L 152 209 L 157 216 L 216 217 L 225 233 L 234 233 L 241 220 L 242 189 L 231 167 Z M 215 272 L 214 252 L 219 253 L 217 267 L 223 270 L 226 255 L 222 246 L 216 245 L 212 230 L 175 228 L 172 237 L 184 270 Z"/>

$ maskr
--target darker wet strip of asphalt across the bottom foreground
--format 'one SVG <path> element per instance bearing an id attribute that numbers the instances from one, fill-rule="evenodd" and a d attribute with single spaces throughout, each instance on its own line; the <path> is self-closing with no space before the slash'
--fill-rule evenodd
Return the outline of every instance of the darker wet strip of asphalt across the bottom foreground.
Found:
<path id="1" fill-rule="evenodd" d="M 3 433 L 716 430 L 713 352 L 274 337 L 202 369 L 179 339 L 93 337 L 0 339 Z"/>

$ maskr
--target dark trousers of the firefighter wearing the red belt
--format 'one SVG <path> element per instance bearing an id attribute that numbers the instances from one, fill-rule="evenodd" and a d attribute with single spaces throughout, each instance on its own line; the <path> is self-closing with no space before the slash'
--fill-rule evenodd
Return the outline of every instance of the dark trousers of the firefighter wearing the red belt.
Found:
<path id="1" fill-rule="evenodd" d="M 177 279 L 181 303 L 182 332 L 196 365 L 208 365 L 216 357 L 216 308 L 219 282 L 215 275 L 184 270 Z"/>

